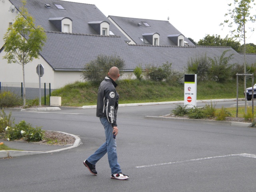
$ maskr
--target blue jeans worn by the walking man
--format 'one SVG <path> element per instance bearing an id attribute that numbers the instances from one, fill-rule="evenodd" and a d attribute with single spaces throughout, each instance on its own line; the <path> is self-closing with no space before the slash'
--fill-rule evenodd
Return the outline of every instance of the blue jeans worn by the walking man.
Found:
<path id="1" fill-rule="evenodd" d="M 105 129 L 106 142 L 102 144 L 94 154 L 87 158 L 87 161 L 95 165 L 98 160 L 108 153 L 108 163 L 111 168 L 111 174 L 121 173 L 122 170 L 117 162 L 116 140 L 113 138 L 113 128 L 106 117 L 100 117 L 100 122 Z"/>

